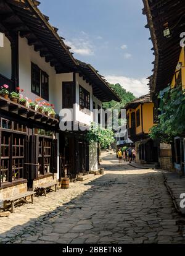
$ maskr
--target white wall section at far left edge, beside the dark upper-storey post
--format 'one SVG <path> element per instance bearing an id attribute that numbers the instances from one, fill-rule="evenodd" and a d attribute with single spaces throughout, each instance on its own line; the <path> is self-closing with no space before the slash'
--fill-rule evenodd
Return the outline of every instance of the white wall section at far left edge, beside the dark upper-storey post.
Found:
<path id="1" fill-rule="evenodd" d="M 10 41 L 3 35 L 3 47 L 0 47 L 0 74 L 8 79 L 12 77 L 12 51 Z"/>

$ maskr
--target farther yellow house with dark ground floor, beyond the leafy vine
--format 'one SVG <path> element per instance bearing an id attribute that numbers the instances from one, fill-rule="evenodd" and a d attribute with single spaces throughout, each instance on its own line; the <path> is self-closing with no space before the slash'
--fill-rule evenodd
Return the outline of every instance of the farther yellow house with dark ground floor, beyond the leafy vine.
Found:
<path id="1" fill-rule="evenodd" d="M 157 163 L 157 144 L 150 139 L 150 129 L 155 125 L 154 103 L 150 95 L 141 96 L 126 105 L 128 137 L 136 144 L 136 161 Z"/>

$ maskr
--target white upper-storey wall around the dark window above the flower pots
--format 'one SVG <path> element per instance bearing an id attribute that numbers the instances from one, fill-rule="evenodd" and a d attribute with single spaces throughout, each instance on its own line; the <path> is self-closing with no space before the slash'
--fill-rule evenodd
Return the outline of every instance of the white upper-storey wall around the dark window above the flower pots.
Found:
<path id="1" fill-rule="evenodd" d="M 59 114 L 62 109 L 62 82 L 72 82 L 73 73 L 56 74 L 54 67 L 41 58 L 33 46 L 28 45 L 26 38 L 19 38 L 19 87 L 24 90 L 23 95 L 33 101 L 38 96 L 31 93 L 31 62 L 49 75 L 49 103 L 55 105 Z"/>

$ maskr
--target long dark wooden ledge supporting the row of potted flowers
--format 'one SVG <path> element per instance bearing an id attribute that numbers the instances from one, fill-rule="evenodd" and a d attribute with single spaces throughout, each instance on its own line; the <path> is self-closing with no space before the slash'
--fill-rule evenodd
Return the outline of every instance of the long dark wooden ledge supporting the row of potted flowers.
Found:
<path id="1" fill-rule="evenodd" d="M 30 119 L 30 121 L 39 121 L 51 126 L 55 126 L 55 124 L 59 123 L 58 119 L 46 116 L 46 114 L 39 113 L 31 108 L 15 103 L 14 101 L 6 100 L 6 98 L 3 98 L 2 96 L 0 96 L 0 109 L 17 114 L 20 117 L 25 117 Z"/>

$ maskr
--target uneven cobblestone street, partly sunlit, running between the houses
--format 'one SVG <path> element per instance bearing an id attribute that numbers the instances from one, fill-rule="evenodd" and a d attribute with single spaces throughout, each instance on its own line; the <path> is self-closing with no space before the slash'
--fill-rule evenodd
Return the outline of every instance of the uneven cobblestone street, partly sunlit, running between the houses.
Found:
<path id="1" fill-rule="evenodd" d="M 103 154 L 104 176 L 92 175 L 0 219 L 2 243 L 179 243 L 182 221 L 163 174 L 118 164 Z"/>

